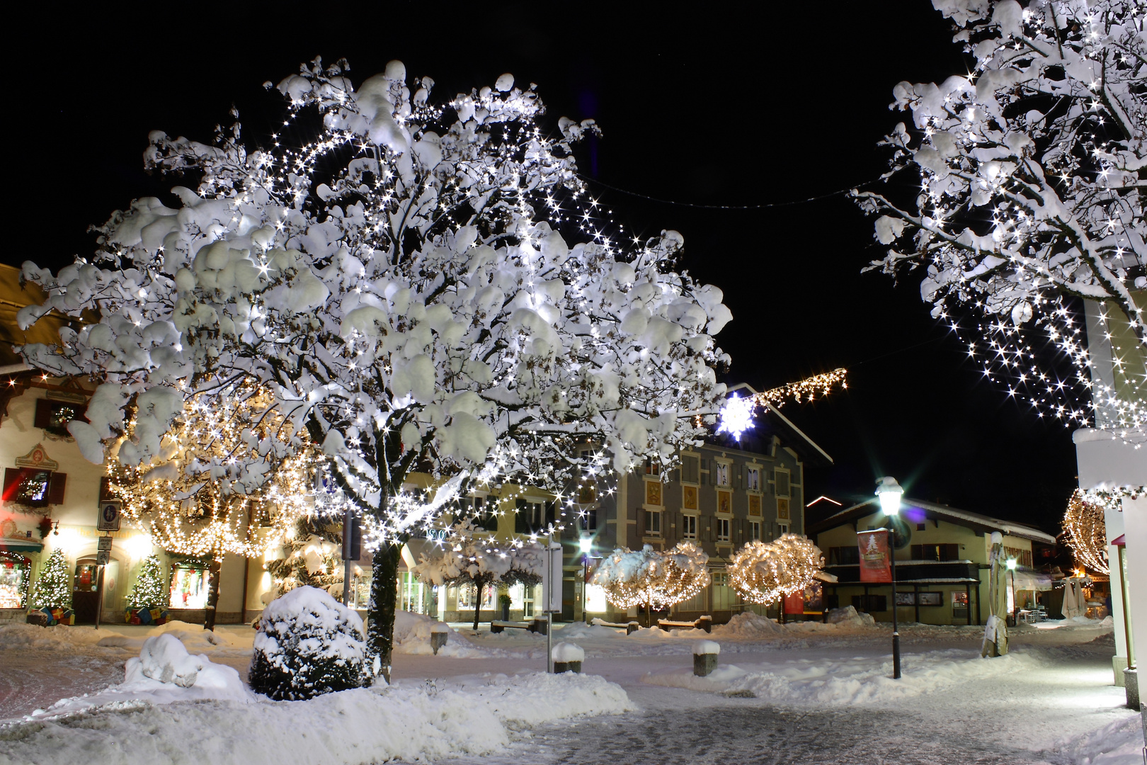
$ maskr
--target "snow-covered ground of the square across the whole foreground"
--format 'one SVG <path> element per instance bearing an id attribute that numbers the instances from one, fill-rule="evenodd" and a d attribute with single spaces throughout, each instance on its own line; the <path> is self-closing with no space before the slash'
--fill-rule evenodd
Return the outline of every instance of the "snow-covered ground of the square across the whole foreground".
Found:
<path id="1" fill-rule="evenodd" d="M 253 631 L 0 625 L 0 716 L 28 716 L 0 728 L 0 763 L 1142 762 L 1139 716 L 1111 685 L 1110 627 L 1093 622 L 1021 627 L 998 659 L 980 658 L 982 629 L 902 625 L 902 680 L 890 630 L 860 619 L 746 615 L 711 635 L 565 625 L 554 642 L 585 650 L 582 677 L 544 673 L 544 635 L 453 627 L 435 656 L 429 622 L 404 615 L 387 689 L 159 703 L 143 687 L 99 692 L 153 632 L 245 677 Z M 708 678 L 692 674 L 699 639 L 720 645 Z M 33 715 L 53 689 L 89 695 Z"/>

